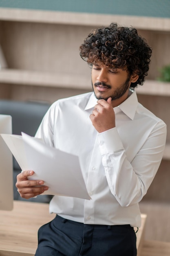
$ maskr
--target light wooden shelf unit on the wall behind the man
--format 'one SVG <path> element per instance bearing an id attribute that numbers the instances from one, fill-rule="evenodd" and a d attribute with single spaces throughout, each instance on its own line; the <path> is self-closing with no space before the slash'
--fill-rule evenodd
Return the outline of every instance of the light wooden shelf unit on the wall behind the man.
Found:
<path id="1" fill-rule="evenodd" d="M 7 64 L 0 70 L 0 98 L 52 103 L 91 90 L 91 70 L 79 57 L 79 45 L 92 29 L 111 22 L 135 27 L 153 49 L 147 80 L 136 91 L 139 102 L 166 122 L 167 143 L 145 200 L 170 202 L 170 83 L 157 81 L 159 68 L 170 63 L 170 18 L 0 8 Z"/>

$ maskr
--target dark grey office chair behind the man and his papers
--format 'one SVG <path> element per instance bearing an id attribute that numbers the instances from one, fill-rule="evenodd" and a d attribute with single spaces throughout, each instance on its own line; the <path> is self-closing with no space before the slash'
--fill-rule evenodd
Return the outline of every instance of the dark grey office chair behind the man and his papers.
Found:
<path id="1" fill-rule="evenodd" d="M 46 111 L 49 109 L 49 103 L 37 103 L 37 102 L 22 102 L 11 100 L 0 100 L 0 114 L 11 115 L 12 117 L 12 130 L 13 134 L 21 135 L 21 132 L 25 132 L 30 136 L 34 136 L 42 118 Z M 18 162 L 13 157 L 13 192 L 14 200 L 26 200 L 20 197 L 15 186 L 16 177 L 21 172 L 21 168 Z M 46 202 L 51 200 L 52 196 L 39 195 L 37 198 L 30 198 L 27 201 L 32 202 Z"/>

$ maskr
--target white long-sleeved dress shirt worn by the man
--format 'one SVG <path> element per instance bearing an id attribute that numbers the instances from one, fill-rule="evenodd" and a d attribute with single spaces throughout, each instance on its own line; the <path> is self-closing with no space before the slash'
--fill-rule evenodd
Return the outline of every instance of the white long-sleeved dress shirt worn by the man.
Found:
<path id="1" fill-rule="evenodd" d="M 55 195 L 49 210 L 85 224 L 140 227 L 138 203 L 159 168 L 166 124 L 138 103 L 136 92 L 130 92 L 114 108 L 116 127 L 98 133 L 89 118 L 96 102 L 93 92 L 58 100 L 40 124 L 36 137 L 79 156 L 92 198 Z"/>

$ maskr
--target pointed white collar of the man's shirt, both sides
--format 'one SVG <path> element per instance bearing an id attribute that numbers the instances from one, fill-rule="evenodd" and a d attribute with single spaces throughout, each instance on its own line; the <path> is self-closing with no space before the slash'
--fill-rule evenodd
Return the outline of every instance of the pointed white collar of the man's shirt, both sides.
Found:
<path id="1" fill-rule="evenodd" d="M 97 104 L 97 99 L 95 97 L 94 92 L 91 94 L 91 97 L 85 107 L 85 110 L 94 108 L 94 106 Z M 126 101 L 122 102 L 119 106 L 114 108 L 115 112 L 119 112 L 120 110 L 124 112 L 125 115 L 127 115 L 130 119 L 134 119 L 135 112 L 137 109 L 137 95 L 135 90 L 129 91 L 129 97 L 126 99 Z"/>

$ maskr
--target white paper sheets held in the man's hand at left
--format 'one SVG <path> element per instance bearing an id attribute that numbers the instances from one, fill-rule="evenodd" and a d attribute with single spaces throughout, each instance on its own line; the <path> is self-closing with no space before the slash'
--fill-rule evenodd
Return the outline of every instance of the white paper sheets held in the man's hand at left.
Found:
<path id="1" fill-rule="evenodd" d="M 47 146 L 39 139 L 22 133 L 1 134 L 22 171 L 33 170 L 33 180 L 44 180 L 49 190 L 43 194 L 65 195 L 90 200 L 79 165 L 79 158 Z"/>

